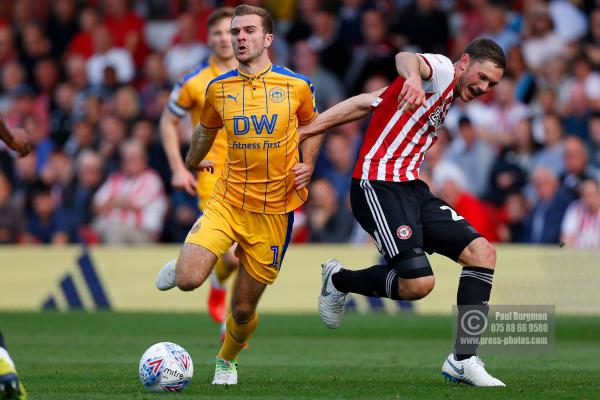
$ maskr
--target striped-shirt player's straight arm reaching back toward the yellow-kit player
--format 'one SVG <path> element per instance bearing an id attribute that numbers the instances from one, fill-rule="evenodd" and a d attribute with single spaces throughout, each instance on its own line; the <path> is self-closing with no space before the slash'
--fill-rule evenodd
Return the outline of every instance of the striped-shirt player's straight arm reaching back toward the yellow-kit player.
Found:
<path id="1" fill-rule="evenodd" d="M 322 135 L 328 129 L 366 116 L 371 112 L 373 102 L 385 89 L 386 87 L 371 93 L 362 93 L 350 97 L 319 114 L 310 124 L 300 127 L 300 141 L 312 136 Z"/>

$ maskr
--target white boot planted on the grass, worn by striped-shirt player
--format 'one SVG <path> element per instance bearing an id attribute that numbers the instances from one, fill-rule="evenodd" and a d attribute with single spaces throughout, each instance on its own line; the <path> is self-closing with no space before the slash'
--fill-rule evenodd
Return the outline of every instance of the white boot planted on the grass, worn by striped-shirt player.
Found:
<path id="1" fill-rule="evenodd" d="M 456 361 L 454 354 L 450 353 L 442 365 L 442 375 L 449 381 L 473 386 L 506 386 L 501 380 L 488 374 L 484 366 L 477 356 Z"/>

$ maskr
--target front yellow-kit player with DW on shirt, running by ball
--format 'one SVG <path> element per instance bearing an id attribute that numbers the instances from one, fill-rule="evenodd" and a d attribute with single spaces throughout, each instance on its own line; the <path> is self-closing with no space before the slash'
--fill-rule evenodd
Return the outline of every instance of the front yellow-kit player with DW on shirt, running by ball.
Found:
<path id="1" fill-rule="evenodd" d="M 163 267 L 157 277 L 163 287 L 193 290 L 237 242 L 240 266 L 225 341 L 216 359 L 215 385 L 237 383 L 238 355 L 258 324 L 259 299 L 280 271 L 293 212 L 308 196 L 305 186 L 321 143 L 320 137 L 313 137 L 299 145 L 298 126 L 317 116 L 314 89 L 308 78 L 271 64 L 267 50 L 273 25 L 262 8 L 235 8 L 231 35 L 239 67 L 209 84 L 185 160 L 189 169 L 205 168 L 207 153 L 225 127 L 225 170 L 190 230 L 176 267 Z"/>

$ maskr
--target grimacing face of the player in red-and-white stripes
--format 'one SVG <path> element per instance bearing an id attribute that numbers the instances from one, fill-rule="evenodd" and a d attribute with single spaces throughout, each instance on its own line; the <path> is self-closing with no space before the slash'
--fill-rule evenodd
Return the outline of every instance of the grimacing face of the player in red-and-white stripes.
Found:
<path id="1" fill-rule="evenodd" d="M 458 80 L 457 89 L 458 96 L 464 102 L 469 102 L 492 90 L 500 82 L 504 72 L 492 61 L 469 60 L 467 54 L 461 57 L 460 68 L 463 72 Z"/>

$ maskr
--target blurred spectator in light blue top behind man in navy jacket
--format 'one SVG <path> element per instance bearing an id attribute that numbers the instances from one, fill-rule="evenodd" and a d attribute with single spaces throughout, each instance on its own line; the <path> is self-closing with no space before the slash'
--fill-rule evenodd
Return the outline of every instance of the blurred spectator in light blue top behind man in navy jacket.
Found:
<path id="1" fill-rule="evenodd" d="M 542 121 L 544 147 L 533 156 L 533 168 L 547 168 L 559 176 L 565 169 L 563 128 L 556 114 L 546 114 Z"/>

